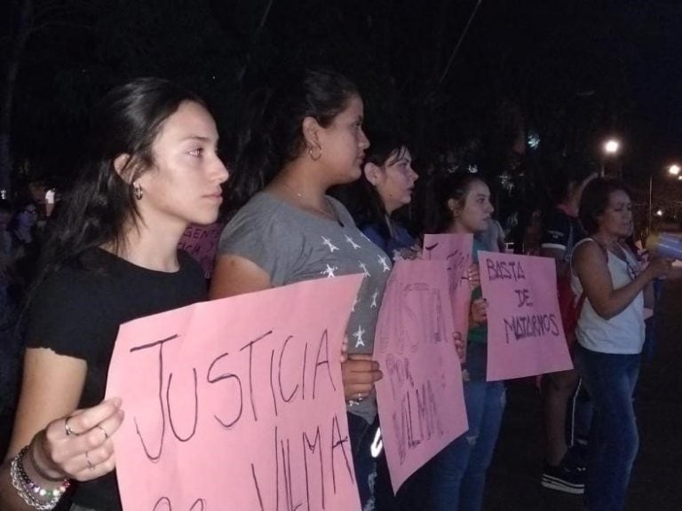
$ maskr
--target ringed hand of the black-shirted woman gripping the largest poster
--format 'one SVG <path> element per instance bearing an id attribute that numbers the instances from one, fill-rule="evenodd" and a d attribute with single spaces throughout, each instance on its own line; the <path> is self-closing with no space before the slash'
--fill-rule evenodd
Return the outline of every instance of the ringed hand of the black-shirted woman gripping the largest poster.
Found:
<path id="1" fill-rule="evenodd" d="M 31 446 L 32 457 L 30 462 L 24 460 L 24 467 L 31 472 L 31 478 L 35 477 L 34 473 L 40 479 L 43 473 L 51 478 L 68 477 L 76 481 L 104 476 L 115 468 L 111 436 L 122 422 L 119 398 L 52 421 L 36 435 Z"/>

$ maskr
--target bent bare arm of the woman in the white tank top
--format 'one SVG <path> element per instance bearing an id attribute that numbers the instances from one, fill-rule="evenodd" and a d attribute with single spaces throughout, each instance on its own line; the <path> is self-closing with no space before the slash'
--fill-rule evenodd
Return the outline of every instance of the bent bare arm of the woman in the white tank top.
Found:
<path id="1" fill-rule="evenodd" d="M 575 250 L 574 269 L 594 311 L 610 319 L 630 305 L 651 280 L 664 275 L 668 263 L 654 259 L 630 284 L 614 289 L 602 248 L 597 243 L 583 243 Z"/>

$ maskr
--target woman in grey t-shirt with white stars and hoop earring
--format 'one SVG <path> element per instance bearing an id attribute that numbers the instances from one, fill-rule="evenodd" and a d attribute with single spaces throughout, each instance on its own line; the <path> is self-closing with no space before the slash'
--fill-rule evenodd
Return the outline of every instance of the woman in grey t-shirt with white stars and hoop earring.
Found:
<path id="1" fill-rule="evenodd" d="M 364 275 L 346 329 L 342 374 L 356 480 L 363 507 L 371 508 L 374 382 L 381 377 L 372 350 L 391 262 L 357 229 L 348 210 L 327 195 L 331 186 L 361 176 L 369 146 L 362 130 L 362 99 L 345 76 L 307 70 L 284 77 L 250 111 L 258 114 L 242 132 L 230 194 L 236 206 L 248 202 L 222 233 L 210 295 Z"/>

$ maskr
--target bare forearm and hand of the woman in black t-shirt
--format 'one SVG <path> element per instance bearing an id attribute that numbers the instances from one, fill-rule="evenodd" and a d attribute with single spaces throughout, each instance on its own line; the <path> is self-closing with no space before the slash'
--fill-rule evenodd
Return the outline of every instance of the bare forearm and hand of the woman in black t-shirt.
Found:
<path id="1" fill-rule="evenodd" d="M 33 459 L 40 471 L 52 478 L 87 481 L 114 469 L 110 436 L 123 421 L 120 400 L 75 411 L 86 371 L 86 363 L 81 359 L 57 355 L 52 350 L 27 350 L 12 440 L 7 459 L 0 468 L 0 508 L 31 509 L 12 486 L 10 460 L 23 446 L 31 444 L 34 436 L 31 455 L 25 456 L 22 464 L 28 477 L 43 488 L 57 488 L 60 483 L 40 476 Z M 67 419 L 69 428 L 78 436 L 67 436 Z M 106 436 L 102 428 L 107 431 Z M 88 462 L 94 468 L 89 468 Z"/>

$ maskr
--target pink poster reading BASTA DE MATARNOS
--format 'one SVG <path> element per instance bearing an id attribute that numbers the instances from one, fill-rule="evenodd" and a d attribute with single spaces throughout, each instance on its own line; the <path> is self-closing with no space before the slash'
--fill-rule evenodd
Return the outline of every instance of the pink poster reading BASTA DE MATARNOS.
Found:
<path id="1" fill-rule="evenodd" d="M 572 369 L 554 260 L 479 252 L 488 301 L 488 381 Z"/>

